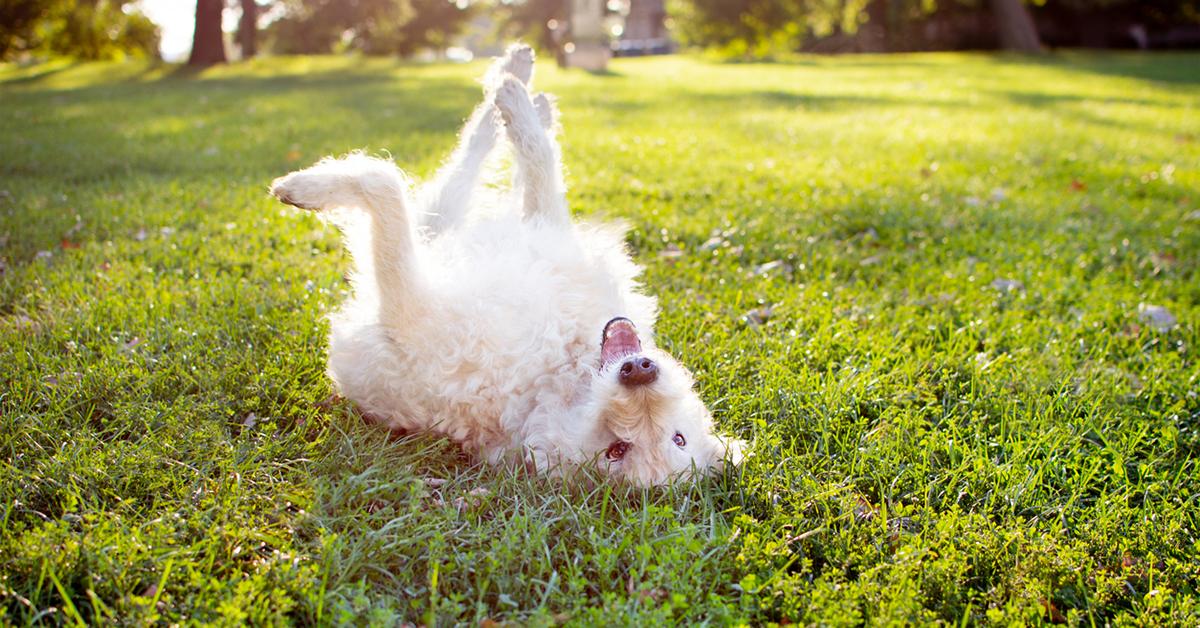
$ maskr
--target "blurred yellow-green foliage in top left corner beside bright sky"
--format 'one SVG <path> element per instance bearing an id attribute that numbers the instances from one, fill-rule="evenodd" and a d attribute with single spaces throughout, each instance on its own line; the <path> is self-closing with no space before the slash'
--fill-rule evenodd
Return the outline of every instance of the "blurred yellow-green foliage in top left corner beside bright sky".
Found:
<path id="1" fill-rule="evenodd" d="M 156 56 L 158 28 L 130 0 L 0 0 L 0 60 Z"/>

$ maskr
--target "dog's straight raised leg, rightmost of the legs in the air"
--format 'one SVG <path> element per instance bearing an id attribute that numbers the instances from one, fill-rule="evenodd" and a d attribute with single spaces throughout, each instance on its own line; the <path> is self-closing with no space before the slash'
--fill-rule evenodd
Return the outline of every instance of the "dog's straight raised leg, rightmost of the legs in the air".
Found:
<path id="1" fill-rule="evenodd" d="M 521 79 L 509 76 L 496 90 L 496 106 L 516 149 L 517 183 L 524 192 L 526 220 L 565 225 L 570 216 L 558 143 L 547 131 L 553 127 L 553 103 L 544 100 L 541 109 L 545 113 L 539 113 Z"/>

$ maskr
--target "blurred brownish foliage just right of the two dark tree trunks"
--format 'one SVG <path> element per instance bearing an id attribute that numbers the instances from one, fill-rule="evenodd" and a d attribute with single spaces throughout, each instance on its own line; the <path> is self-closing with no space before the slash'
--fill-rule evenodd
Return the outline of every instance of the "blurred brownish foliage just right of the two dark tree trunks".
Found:
<path id="1" fill-rule="evenodd" d="M 449 43 L 472 13 L 450 0 L 286 0 L 287 12 L 268 28 L 271 49 L 318 54 L 353 49 L 412 55 Z"/>

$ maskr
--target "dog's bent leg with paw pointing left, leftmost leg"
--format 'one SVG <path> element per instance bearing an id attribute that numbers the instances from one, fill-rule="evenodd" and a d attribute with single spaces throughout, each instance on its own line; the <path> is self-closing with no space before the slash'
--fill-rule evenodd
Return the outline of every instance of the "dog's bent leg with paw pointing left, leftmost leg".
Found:
<path id="1" fill-rule="evenodd" d="M 271 184 L 280 201 L 301 209 L 358 209 L 334 222 L 354 257 L 359 289 L 374 288 L 379 322 L 400 328 L 421 316 L 421 276 L 407 207 L 408 183 L 390 161 L 352 154 L 281 177 Z M 368 222 L 360 220 L 368 217 Z"/>

